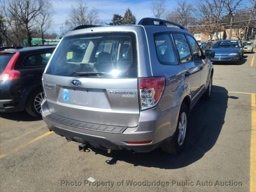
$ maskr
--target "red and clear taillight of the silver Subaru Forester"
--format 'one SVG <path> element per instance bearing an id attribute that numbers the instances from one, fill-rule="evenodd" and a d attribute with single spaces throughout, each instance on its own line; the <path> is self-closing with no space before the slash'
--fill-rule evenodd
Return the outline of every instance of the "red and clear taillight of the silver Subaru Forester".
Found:
<path id="1" fill-rule="evenodd" d="M 164 77 L 139 78 L 140 109 L 145 110 L 156 106 L 165 86 Z"/>

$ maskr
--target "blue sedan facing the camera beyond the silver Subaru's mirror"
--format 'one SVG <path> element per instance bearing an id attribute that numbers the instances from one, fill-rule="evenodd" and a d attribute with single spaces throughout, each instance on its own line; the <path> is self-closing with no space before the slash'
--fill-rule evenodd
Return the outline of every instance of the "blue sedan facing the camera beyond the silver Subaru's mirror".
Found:
<path id="1" fill-rule="evenodd" d="M 239 40 L 220 40 L 212 46 L 215 57 L 212 62 L 238 63 L 244 55 L 243 45 Z"/>

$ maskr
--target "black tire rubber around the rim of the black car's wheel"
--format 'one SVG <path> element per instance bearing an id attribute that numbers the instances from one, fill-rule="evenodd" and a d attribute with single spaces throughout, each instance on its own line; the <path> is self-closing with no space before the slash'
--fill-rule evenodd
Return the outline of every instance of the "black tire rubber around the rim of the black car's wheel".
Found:
<path id="1" fill-rule="evenodd" d="M 42 118 L 41 113 L 36 111 L 36 108 L 34 106 L 34 100 L 36 98 L 36 96 L 38 96 L 38 94 L 43 93 L 43 89 L 42 88 L 35 88 L 34 90 L 32 90 L 32 92 L 29 94 L 27 101 L 26 101 L 26 106 L 25 106 L 25 110 L 26 112 L 33 116 L 33 117 L 37 117 L 37 118 Z"/>

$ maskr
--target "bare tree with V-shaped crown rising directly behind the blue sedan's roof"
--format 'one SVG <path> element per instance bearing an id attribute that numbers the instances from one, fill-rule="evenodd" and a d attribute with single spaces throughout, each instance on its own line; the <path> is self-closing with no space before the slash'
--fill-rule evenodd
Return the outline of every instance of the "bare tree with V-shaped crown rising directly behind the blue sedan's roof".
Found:
<path id="1" fill-rule="evenodd" d="M 232 26 L 234 22 L 234 15 L 236 13 L 237 8 L 244 3 L 244 0 L 223 0 L 226 10 L 228 12 L 228 16 L 230 17 L 230 35 L 229 39 L 232 38 Z"/>

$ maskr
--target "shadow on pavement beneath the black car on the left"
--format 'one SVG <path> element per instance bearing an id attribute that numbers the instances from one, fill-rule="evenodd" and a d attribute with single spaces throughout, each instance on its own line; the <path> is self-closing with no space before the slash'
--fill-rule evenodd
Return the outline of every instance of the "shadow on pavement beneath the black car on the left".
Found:
<path id="1" fill-rule="evenodd" d="M 0 118 L 15 120 L 15 121 L 39 121 L 42 118 L 35 118 L 30 116 L 26 111 L 21 112 L 10 112 L 10 113 L 0 113 Z"/>

